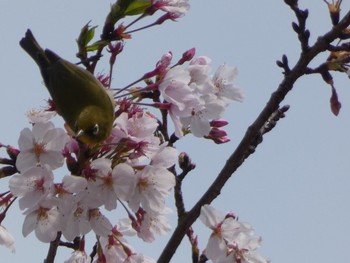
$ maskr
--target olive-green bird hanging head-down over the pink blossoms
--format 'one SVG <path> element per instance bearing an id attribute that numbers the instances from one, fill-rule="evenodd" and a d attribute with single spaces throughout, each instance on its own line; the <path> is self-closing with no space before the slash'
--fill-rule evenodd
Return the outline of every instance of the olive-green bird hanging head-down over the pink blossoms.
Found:
<path id="1" fill-rule="evenodd" d="M 56 111 L 78 140 L 96 145 L 107 139 L 114 121 L 114 102 L 100 81 L 51 50 L 42 49 L 29 29 L 19 43 L 38 64 Z"/>

